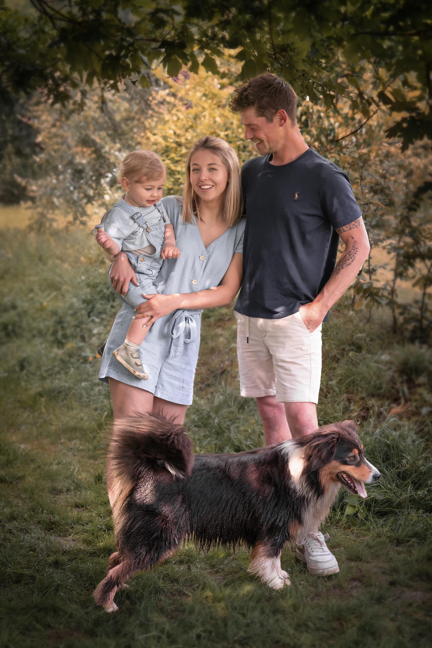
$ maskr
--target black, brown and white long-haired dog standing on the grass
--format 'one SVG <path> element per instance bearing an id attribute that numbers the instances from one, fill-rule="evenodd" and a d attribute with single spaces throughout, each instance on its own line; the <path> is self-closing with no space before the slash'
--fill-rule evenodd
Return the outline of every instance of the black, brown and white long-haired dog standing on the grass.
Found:
<path id="1" fill-rule="evenodd" d="M 286 542 L 302 544 L 328 515 L 341 485 L 365 498 L 380 472 L 363 455 L 354 421 L 237 454 L 195 455 L 187 431 L 162 415 L 117 422 L 109 451 L 117 551 L 95 600 L 117 612 L 115 593 L 140 570 L 165 561 L 186 538 L 252 550 L 248 571 L 278 590 Z"/>

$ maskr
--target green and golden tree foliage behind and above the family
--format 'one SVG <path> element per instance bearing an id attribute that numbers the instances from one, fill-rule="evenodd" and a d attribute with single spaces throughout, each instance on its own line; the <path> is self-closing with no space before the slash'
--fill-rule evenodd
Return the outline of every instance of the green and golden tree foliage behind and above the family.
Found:
<path id="1" fill-rule="evenodd" d="M 16 5 L 15 5 L 16 6 Z M 115 169 L 152 148 L 178 193 L 203 134 L 253 155 L 226 110 L 242 79 L 271 70 L 299 95 L 308 143 L 350 174 L 372 256 L 352 305 L 379 304 L 424 338 L 431 323 L 431 14 L 427 3 L 0 0 L 0 196 L 35 226 L 85 223 L 116 200 Z M 64 219 L 63 219 L 64 220 Z M 388 253 L 391 273 L 372 262 Z M 409 280 L 413 299 L 398 299 Z"/>

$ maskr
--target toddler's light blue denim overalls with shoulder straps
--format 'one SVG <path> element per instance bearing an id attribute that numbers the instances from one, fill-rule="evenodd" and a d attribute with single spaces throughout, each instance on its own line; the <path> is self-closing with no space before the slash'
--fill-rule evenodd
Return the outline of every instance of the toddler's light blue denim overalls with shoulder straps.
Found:
<path id="1" fill-rule="evenodd" d="M 166 214 L 165 208 L 161 202 L 155 203 L 153 208 L 157 213 L 159 213 L 159 220 L 156 224 L 152 223 L 152 227 L 149 227 L 148 224 L 148 215 L 149 211 L 144 210 L 144 214 L 141 211 L 137 211 L 136 207 L 129 205 L 123 199 L 120 199 L 119 202 L 114 205 L 125 211 L 128 216 L 135 222 L 138 228 L 145 230 L 145 236 L 155 248 L 156 251 L 154 254 L 135 254 L 131 251 L 124 250 L 128 259 L 131 262 L 133 270 L 137 275 L 137 281 L 139 286 L 135 286 L 132 282 L 129 284 L 128 292 L 124 295 L 124 301 L 126 301 L 131 306 L 135 307 L 138 304 L 142 304 L 143 301 L 146 301 L 142 297 L 142 293 L 146 294 L 155 294 L 157 292 L 153 286 L 163 259 L 161 257 L 161 249 L 163 248 L 163 239 L 165 234 L 165 224 L 169 222 L 168 215 Z M 151 210 L 153 214 L 153 209 Z M 109 213 L 109 212 L 108 212 Z M 106 218 L 108 214 L 104 216 Z M 104 223 L 104 218 L 102 218 L 102 224 Z M 152 219 L 154 220 L 154 218 Z M 137 231 L 135 230 L 134 234 L 136 235 Z M 126 240 L 126 239 L 125 239 Z M 111 266 L 108 268 L 108 284 L 111 290 L 119 297 L 119 294 L 115 292 L 114 288 L 111 286 L 111 279 L 109 273 L 111 272 Z"/>

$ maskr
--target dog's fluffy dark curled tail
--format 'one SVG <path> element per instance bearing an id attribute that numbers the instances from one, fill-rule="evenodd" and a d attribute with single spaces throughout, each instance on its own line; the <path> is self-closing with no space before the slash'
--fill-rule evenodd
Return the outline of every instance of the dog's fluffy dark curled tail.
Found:
<path id="1" fill-rule="evenodd" d="M 166 469 L 180 478 L 190 475 L 194 463 L 186 429 L 155 413 L 116 421 L 109 459 L 117 479 L 132 481 L 139 478 L 144 459 L 162 459 Z"/>

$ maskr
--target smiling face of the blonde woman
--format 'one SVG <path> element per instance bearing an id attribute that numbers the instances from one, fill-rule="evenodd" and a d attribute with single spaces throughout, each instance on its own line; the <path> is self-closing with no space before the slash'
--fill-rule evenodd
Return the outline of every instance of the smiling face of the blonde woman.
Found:
<path id="1" fill-rule="evenodd" d="M 220 157 L 201 148 L 190 158 L 190 182 L 201 200 L 217 200 L 227 188 L 228 171 Z"/>

